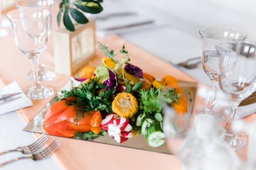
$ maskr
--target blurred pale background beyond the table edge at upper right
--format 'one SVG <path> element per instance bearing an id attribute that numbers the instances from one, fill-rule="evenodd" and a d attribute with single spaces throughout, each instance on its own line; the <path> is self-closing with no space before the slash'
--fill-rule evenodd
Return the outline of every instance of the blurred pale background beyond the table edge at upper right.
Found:
<path id="1" fill-rule="evenodd" d="M 205 26 L 230 26 L 245 30 L 247 40 L 256 42 L 254 0 L 107 0 L 198 37 Z"/>

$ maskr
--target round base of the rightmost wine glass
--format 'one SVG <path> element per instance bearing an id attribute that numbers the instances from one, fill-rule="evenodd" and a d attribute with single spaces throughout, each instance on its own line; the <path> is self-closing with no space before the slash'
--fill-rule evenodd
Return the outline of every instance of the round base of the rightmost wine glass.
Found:
<path id="1" fill-rule="evenodd" d="M 247 137 L 243 132 L 226 132 L 224 140 L 233 150 L 238 150 L 245 146 Z"/>

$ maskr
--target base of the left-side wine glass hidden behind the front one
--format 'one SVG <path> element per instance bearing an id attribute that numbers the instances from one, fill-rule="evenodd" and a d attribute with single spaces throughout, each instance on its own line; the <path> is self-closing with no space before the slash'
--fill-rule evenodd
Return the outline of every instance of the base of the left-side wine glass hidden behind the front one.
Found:
<path id="1" fill-rule="evenodd" d="M 50 81 L 53 80 L 57 74 L 55 72 L 52 72 L 44 67 L 38 68 L 38 79 L 40 81 Z M 28 73 L 28 79 L 33 81 L 33 72 Z"/>

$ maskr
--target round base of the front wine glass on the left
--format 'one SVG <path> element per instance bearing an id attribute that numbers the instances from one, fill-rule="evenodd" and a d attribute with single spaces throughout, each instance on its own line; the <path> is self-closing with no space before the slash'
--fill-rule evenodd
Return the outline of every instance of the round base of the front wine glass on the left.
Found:
<path id="1" fill-rule="evenodd" d="M 31 86 L 24 89 L 24 93 L 32 100 L 48 98 L 54 94 L 53 87 L 46 85 Z"/>

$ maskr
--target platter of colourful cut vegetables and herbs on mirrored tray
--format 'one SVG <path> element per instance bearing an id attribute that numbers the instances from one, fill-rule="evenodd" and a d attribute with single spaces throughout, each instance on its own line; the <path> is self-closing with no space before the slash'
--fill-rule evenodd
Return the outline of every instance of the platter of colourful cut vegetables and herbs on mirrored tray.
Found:
<path id="1" fill-rule="evenodd" d="M 50 135 L 143 149 L 132 146 L 139 139 L 146 149 L 163 147 L 163 105 L 177 115 L 190 114 L 196 85 L 181 88 L 171 75 L 156 79 L 143 72 L 129 63 L 124 45 L 117 53 L 101 43 L 100 49 L 105 51 L 101 64 L 83 67 L 74 78 L 78 86 L 58 93 L 41 113 L 39 126 Z M 32 124 L 24 130 L 40 131 Z"/>

